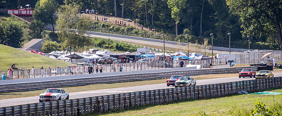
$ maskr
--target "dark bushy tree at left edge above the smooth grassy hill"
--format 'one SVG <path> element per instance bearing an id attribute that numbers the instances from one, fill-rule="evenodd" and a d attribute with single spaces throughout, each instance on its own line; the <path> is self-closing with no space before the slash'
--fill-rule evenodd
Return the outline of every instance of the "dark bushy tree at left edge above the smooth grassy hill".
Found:
<path id="1" fill-rule="evenodd" d="M 20 48 L 22 43 L 23 27 L 17 21 L 8 18 L 0 23 L 0 42 L 6 41 L 8 46 Z"/>

